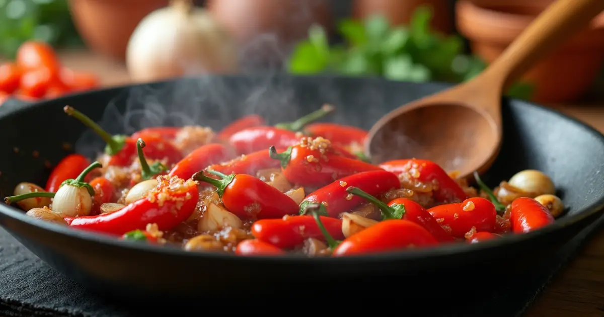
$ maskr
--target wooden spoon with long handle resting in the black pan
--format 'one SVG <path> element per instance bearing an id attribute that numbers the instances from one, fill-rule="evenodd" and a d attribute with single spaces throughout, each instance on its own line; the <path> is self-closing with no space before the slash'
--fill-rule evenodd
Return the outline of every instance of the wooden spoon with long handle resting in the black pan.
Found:
<path id="1" fill-rule="evenodd" d="M 501 146 L 501 96 L 554 46 L 585 28 L 604 0 L 551 4 L 495 62 L 466 83 L 403 105 L 369 131 L 365 154 L 373 162 L 420 158 L 459 171 L 483 173 Z"/>

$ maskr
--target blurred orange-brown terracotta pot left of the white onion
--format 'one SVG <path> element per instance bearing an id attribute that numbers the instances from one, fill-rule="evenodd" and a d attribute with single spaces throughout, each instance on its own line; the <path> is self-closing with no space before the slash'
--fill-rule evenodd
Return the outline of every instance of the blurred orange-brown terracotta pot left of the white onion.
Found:
<path id="1" fill-rule="evenodd" d="M 69 10 L 91 50 L 124 60 L 130 34 L 138 22 L 168 3 L 169 0 L 69 0 Z"/>

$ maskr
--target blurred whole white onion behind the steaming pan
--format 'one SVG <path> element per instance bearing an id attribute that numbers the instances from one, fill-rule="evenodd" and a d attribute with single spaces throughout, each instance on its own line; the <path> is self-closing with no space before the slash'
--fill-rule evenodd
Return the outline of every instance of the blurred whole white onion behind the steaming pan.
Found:
<path id="1" fill-rule="evenodd" d="M 130 36 L 130 78 L 149 82 L 214 72 L 233 72 L 237 54 L 230 35 L 191 0 L 174 1 L 147 15 Z"/>

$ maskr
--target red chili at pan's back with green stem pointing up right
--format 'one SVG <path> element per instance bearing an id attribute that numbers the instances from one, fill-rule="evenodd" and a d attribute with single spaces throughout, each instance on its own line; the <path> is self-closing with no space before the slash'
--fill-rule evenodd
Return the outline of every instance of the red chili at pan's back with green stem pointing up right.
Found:
<path id="1" fill-rule="evenodd" d="M 270 146 L 289 147 L 300 142 L 302 133 L 296 131 L 302 129 L 306 124 L 315 121 L 324 115 L 333 112 L 334 108 L 329 105 L 311 112 L 291 123 L 279 123 L 274 127 L 259 126 L 243 129 L 233 133 L 228 141 L 235 147 L 237 154 L 247 154 L 259 150 L 268 149 Z"/>

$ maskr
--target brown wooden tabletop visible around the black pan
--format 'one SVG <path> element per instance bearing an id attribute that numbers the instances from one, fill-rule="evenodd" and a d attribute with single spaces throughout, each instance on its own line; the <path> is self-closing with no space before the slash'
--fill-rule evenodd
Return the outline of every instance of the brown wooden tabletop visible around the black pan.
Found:
<path id="1" fill-rule="evenodd" d="M 96 72 L 103 85 L 116 86 L 130 82 L 122 63 L 86 51 L 66 52 L 61 57 L 66 66 Z M 604 132 L 603 101 L 553 107 Z M 554 278 L 526 316 L 604 316 L 604 230 L 596 234 L 569 266 Z"/>

